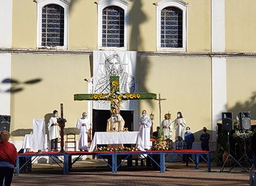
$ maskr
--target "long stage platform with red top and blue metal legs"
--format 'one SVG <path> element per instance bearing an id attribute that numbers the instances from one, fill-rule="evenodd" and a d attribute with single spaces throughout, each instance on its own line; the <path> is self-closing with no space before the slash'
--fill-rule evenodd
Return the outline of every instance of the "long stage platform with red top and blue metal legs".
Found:
<path id="1" fill-rule="evenodd" d="M 184 154 L 191 154 L 195 155 L 195 169 L 199 169 L 199 160 L 200 157 L 208 164 L 208 172 L 211 172 L 211 155 L 209 151 L 202 151 L 202 150 L 166 150 L 166 151 L 154 151 L 154 150 L 146 150 L 144 151 L 136 151 L 136 152 L 42 152 L 42 153 L 35 153 L 35 152 L 28 152 L 24 154 L 19 154 L 17 158 L 17 168 L 16 173 L 19 176 L 20 170 L 28 164 L 28 162 L 33 162 L 39 157 L 49 157 L 54 162 L 56 162 L 61 169 L 63 169 L 63 174 L 67 175 L 72 165 L 76 163 L 83 155 L 97 155 L 98 157 L 102 158 L 106 164 L 108 164 L 109 168 L 111 168 L 112 173 L 117 173 L 118 168 L 122 166 L 125 160 L 128 159 L 131 155 L 141 155 L 143 157 L 149 158 L 156 166 L 160 168 L 160 172 L 165 172 L 165 157 L 166 155 L 173 155 L 173 158 L 169 161 L 172 162 L 175 157 L 184 155 Z M 72 161 L 72 156 L 76 155 L 76 159 Z M 205 155 L 205 157 L 204 157 Z M 26 162 L 20 165 L 20 157 L 26 157 Z M 108 162 L 106 159 L 111 159 L 111 163 Z M 157 159 L 159 161 L 157 161 Z M 56 161 L 56 159 L 58 161 Z"/>

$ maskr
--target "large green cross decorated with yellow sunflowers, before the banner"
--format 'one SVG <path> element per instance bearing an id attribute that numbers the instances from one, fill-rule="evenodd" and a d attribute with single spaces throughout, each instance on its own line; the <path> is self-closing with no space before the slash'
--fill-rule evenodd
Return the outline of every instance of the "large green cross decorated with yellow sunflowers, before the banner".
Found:
<path id="1" fill-rule="evenodd" d="M 154 93 L 122 93 L 120 92 L 119 76 L 110 76 L 110 92 L 108 94 L 75 94 L 75 101 L 109 101 L 111 113 L 115 113 L 115 110 L 120 110 L 122 101 L 125 100 L 136 100 L 136 99 L 156 99 Z"/>

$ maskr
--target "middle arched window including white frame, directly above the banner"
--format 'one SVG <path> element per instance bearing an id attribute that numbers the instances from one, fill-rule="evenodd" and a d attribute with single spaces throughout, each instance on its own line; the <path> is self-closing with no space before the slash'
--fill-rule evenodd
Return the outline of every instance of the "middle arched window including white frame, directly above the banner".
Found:
<path id="1" fill-rule="evenodd" d="M 128 3 L 125 0 L 99 0 L 98 49 L 127 50 Z"/>

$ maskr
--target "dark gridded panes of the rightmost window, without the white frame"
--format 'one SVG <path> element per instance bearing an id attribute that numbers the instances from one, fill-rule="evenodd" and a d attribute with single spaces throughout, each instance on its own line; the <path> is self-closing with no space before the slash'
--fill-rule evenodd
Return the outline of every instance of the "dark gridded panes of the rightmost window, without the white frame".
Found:
<path id="1" fill-rule="evenodd" d="M 161 47 L 182 48 L 182 10 L 166 7 L 161 10 Z"/>

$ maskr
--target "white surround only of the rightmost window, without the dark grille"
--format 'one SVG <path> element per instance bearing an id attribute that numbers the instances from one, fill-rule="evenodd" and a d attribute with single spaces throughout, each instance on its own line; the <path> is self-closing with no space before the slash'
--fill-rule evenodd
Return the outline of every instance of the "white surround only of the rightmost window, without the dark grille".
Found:
<path id="1" fill-rule="evenodd" d="M 188 3 L 181 0 L 163 0 L 156 4 L 157 13 L 157 51 L 185 52 L 187 50 L 187 6 Z M 161 11 L 168 6 L 182 10 L 182 48 L 161 47 Z"/>

